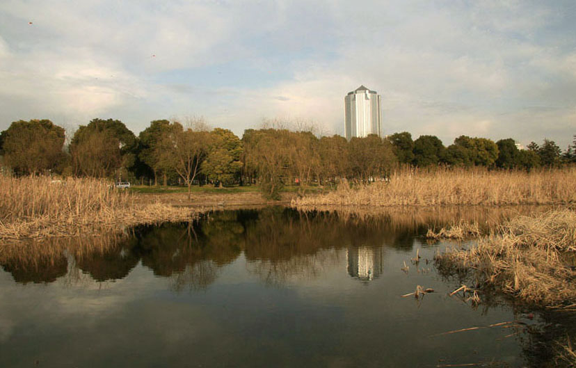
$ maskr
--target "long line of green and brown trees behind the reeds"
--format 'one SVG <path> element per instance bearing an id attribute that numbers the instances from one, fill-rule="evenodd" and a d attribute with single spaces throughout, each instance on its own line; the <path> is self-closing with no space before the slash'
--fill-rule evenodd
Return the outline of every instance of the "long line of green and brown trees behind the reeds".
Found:
<path id="1" fill-rule="evenodd" d="M 260 184 L 274 198 L 285 184 L 320 185 L 339 178 L 369 182 L 397 166 L 531 170 L 576 162 L 576 136 L 565 152 L 545 139 L 519 150 L 512 138 L 497 142 L 459 136 L 445 147 L 436 136 L 413 140 L 404 131 L 385 138 L 318 137 L 310 129 L 210 129 L 202 118 L 153 120 L 136 136 L 120 120 L 93 119 L 67 136 L 50 120 L 19 120 L 0 134 L 3 166 L 16 175 L 56 173 L 110 177 L 147 184 Z"/>

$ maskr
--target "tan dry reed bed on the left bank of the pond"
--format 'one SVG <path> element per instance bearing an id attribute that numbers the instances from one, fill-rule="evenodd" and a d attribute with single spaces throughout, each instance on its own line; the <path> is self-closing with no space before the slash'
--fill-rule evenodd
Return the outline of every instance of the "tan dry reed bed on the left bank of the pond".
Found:
<path id="1" fill-rule="evenodd" d="M 140 223 L 184 221 L 193 211 L 138 204 L 102 179 L 0 177 L 0 240 L 20 241 L 118 231 Z"/>

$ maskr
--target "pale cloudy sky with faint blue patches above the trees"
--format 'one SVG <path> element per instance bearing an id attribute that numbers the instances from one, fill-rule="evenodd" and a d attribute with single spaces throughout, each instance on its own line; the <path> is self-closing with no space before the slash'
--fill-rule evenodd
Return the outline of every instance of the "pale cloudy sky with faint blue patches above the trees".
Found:
<path id="1" fill-rule="evenodd" d="M 204 116 L 239 135 L 264 118 L 343 134 L 364 84 L 385 134 L 562 149 L 576 134 L 573 0 L 164 3 L 0 1 L 0 129 Z"/>

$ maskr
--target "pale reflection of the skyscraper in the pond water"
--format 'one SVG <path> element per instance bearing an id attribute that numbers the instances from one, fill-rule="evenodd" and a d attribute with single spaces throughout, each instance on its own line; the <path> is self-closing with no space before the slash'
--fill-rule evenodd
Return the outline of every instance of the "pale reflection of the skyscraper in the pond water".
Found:
<path id="1" fill-rule="evenodd" d="M 346 269 L 353 278 L 369 281 L 382 273 L 383 248 L 358 247 L 346 250 Z"/>

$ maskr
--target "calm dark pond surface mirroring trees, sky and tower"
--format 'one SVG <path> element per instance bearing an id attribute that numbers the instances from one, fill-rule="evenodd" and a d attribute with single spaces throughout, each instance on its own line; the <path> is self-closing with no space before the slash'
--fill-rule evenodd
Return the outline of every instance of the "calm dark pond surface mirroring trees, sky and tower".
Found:
<path id="1" fill-rule="evenodd" d="M 139 227 L 94 251 L 3 257 L 0 366 L 550 363 L 551 340 L 573 335 L 573 317 L 532 318 L 510 302 L 474 307 L 448 296 L 460 284 L 433 266 L 446 243 L 426 242 L 430 222 L 282 207 L 219 211 L 193 224 Z M 401 297 L 416 285 L 435 292 Z M 514 320 L 520 324 L 441 335 Z"/>

